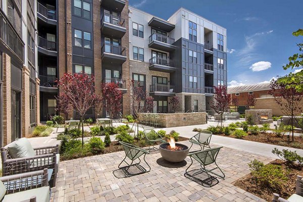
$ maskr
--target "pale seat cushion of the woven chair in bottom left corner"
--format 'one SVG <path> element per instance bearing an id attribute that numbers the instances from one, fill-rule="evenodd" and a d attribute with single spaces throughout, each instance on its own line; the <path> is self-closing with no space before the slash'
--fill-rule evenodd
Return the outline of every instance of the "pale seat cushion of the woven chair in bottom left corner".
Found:
<path id="1" fill-rule="evenodd" d="M 2 202 L 17 202 L 25 199 L 30 199 L 32 196 L 36 196 L 37 202 L 49 202 L 49 186 L 43 186 L 40 188 L 7 194 L 4 196 Z"/>

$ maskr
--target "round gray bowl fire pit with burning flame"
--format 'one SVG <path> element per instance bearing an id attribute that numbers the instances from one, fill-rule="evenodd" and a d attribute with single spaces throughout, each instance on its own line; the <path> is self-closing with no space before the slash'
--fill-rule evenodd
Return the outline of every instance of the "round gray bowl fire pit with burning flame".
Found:
<path id="1" fill-rule="evenodd" d="M 169 143 L 163 143 L 159 146 L 159 150 L 163 159 L 178 163 L 186 158 L 189 148 L 186 145 L 175 143 L 174 138 L 171 137 Z"/>

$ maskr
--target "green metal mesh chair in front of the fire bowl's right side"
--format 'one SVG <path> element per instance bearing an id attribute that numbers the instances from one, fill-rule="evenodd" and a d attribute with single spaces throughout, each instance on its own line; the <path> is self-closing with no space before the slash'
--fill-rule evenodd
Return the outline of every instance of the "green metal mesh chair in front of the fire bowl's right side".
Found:
<path id="1" fill-rule="evenodd" d="M 184 176 L 185 177 L 190 177 L 190 178 L 193 178 L 194 180 L 200 181 L 201 179 L 199 179 L 196 176 L 205 172 L 208 175 L 209 179 L 211 180 L 211 183 L 212 183 L 213 179 L 212 179 L 212 176 L 209 173 L 212 173 L 212 174 L 216 175 L 217 177 L 219 177 L 221 179 L 224 179 L 225 174 L 222 172 L 221 168 L 216 163 L 216 158 L 217 158 L 218 153 L 219 153 L 221 148 L 222 147 L 216 147 L 216 148 L 212 148 L 212 149 L 207 149 L 207 150 L 203 150 L 203 151 L 189 153 L 188 156 L 190 157 L 191 164 L 185 170 Z M 188 169 L 190 168 L 190 166 L 193 163 L 193 159 L 196 160 L 200 164 L 201 168 L 196 169 L 196 170 L 188 171 Z M 211 164 L 215 164 L 216 167 L 212 168 L 211 170 L 208 170 L 208 169 L 205 168 L 205 166 L 208 166 L 208 165 L 211 165 Z M 219 169 L 220 172 L 222 173 L 222 175 L 214 173 L 213 170 L 216 170 L 216 169 Z"/>

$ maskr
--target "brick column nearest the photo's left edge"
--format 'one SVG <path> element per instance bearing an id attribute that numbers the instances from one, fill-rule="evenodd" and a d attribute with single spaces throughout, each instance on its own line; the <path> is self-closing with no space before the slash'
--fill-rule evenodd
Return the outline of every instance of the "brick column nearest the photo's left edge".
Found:
<path id="1" fill-rule="evenodd" d="M 3 143 L 12 142 L 11 57 L 3 54 Z"/>

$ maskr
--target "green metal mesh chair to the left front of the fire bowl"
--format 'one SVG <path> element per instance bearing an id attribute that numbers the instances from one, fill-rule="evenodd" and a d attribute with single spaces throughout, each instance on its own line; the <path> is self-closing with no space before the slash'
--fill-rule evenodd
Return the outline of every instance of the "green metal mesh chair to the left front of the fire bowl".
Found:
<path id="1" fill-rule="evenodd" d="M 142 148 L 139 148 L 137 146 L 134 146 L 134 145 L 131 145 L 131 144 L 128 144 L 128 143 L 124 143 L 124 142 L 119 142 L 123 148 L 124 148 L 124 152 L 125 152 L 125 158 L 122 160 L 122 162 L 119 164 L 118 168 L 122 169 L 125 174 L 127 176 L 132 176 L 132 175 L 138 175 L 138 174 L 142 174 L 142 173 L 145 173 L 145 172 L 149 172 L 150 171 L 150 166 L 148 165 L 148 163 L 145 161 L 145 155 L 146 154 L 149 154 L 148 151 L 142 149 Z M 146 165 L 148 166 L 148 170 L 146 170 L 145 168 L 143 168 L 141 165 L 139 165 L 141 163 L 141 160 L 140 160 L 140 157 L 143 155 L 143 160 L 144 162 L 146 163 Z M 131 160 L 131 163 L 127 163 L 125 161 L 125 159 L 128 158 Z M 139 162 L 138 163 L 134 163 L 134 161 L 136 159 L 139 159 Z M 127 166 L 123 166 L 121 167 L 121 164 L 125 162 L 127 164 Z M 132 167 L 132 166 L 135 166 L 140 172 L 139 173 L 130 173 L 129 172 L 129 169 Z"/>

